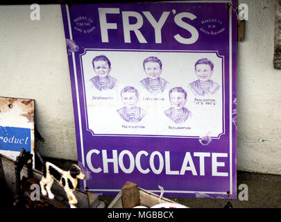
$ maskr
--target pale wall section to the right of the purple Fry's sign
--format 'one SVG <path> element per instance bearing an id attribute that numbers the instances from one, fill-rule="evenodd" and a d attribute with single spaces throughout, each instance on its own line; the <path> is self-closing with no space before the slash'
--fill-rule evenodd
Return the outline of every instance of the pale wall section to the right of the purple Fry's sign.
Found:
<path id="1" fill-rule="evenodd" d="M 281 174 L 281 71 L 273 69 L 275 0 L 245 0 L 245 42 L 238 44 L 237 166 Z"/>

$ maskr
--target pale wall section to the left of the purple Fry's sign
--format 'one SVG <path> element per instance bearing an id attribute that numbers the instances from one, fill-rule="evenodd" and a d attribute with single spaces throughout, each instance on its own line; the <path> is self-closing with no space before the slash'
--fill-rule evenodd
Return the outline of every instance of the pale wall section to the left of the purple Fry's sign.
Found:
<path id="1" fill-rule="evenodd" d="M 0 96 L 35 99 L 35 123 L 44 142 L 35 150 L 77 160 L 74 112 L 62 15 L 42 5 L 40 21 L 30 6 L 0 6 Z"/>

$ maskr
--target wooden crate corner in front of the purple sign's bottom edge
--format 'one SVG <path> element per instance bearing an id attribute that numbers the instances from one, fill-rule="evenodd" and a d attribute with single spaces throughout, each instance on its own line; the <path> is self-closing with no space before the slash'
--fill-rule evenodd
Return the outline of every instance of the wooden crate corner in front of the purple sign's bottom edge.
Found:
<path id="1" fill-rule="evenodd" d="M 108 208 L 133 208 L 139 205 L 152 207 L 159 204 L 160 200 L 161 203 L 176 203 L 169 198 L 160 198 L 159 195 L 146 191 L 135 183 L 128 181 L 110 205 L 108 205 Z"/>

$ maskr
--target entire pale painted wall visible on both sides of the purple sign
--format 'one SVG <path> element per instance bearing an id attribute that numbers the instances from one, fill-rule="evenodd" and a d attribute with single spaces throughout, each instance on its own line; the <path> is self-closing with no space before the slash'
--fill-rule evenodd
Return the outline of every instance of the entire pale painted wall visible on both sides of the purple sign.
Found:
<path id="1" fill-rule="evenodd" d="M 245 0 L 245 42 L 238 44 L 237 167 L 281 174 L 281 72 L 273 69 L 275 0 Z M 69 68 L 60 6 L 0 6 L 0 96 L 35 99 L 47 157 L 77 160 Z M 37 137 L 39 138 L 39 137 Z"/>

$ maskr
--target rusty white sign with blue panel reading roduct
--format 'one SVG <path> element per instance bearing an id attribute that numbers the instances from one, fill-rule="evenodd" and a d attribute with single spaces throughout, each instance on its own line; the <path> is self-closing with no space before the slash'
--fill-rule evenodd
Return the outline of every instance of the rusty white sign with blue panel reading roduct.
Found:
<path id="1" fill-rule="evenodd" d="M 0 97 L 0 154 L 15 161 L 24 148 L 34 162 L 34 104 L 33 99 Z"/>

